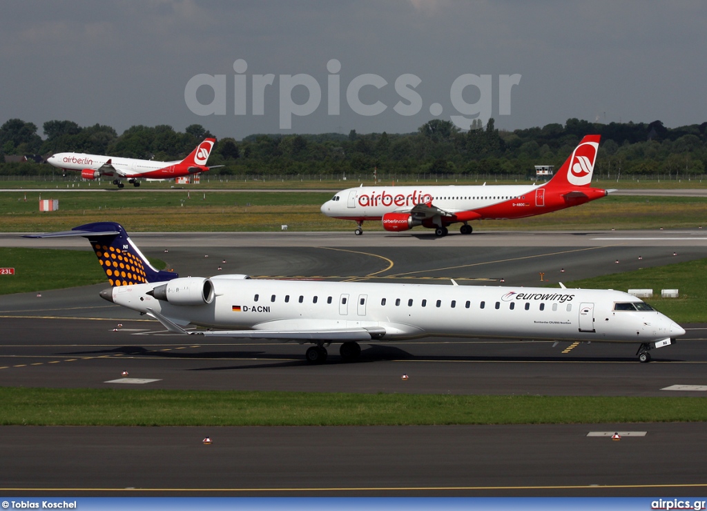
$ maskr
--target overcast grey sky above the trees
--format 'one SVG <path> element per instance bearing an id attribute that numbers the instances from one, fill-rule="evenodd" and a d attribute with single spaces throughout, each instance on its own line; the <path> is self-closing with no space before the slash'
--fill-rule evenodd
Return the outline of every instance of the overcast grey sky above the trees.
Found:
<path id="1" fill-rule="evenodd" d="M 238 139 L 407 133 L 480 110 L 509 130 L 571 117 L 699 124 L 706 28 L 702 0 L 11 0 L 0 124 L 20 118 L 40 135 L 53 119 L 118 133 L 201 124 Z"/>

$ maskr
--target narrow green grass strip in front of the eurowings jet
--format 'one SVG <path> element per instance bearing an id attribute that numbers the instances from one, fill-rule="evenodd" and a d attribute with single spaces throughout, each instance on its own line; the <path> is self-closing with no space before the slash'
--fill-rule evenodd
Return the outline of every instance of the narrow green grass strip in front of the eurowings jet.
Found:
<path id="1" fill-rule="evenodd" d="M 703 397 L 0 387 L 0 425 L 404 426 L 707 421 Z"/>

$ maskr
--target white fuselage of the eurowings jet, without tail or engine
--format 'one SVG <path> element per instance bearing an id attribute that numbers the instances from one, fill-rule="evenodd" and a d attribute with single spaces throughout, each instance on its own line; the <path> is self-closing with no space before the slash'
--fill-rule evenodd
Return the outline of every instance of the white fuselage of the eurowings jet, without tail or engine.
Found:
<path id="1" fill-rule="evenodd" d="M 209 280 L 214 298 L 203 305 L 180 306 L 146 294 L 161 283 L 114 287 L 112 301 L 142 313 L 150 308 L 182 325 L 257 330 L 382 328 L 383 341 L 453 336 L 649 343 L 684 334 L 682 327 L 635 296 L 613 290 L 309 282 L 227 275 Z M 641 305 L 626 311 L 615 310 L 616 303 Z"/>

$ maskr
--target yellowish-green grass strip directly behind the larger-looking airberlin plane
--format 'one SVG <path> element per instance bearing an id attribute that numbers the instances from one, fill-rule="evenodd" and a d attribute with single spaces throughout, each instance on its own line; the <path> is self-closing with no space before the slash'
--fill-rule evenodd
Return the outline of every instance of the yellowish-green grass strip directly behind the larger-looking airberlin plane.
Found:
<path id="1" fill-rule="evenodd" d="M 322 215 L 320 206 L 331 194 L 320 192 L 67 192 L 59 196 L 55 212 L 39 212 L 40 194 L 27 195 L 25 202 L 25 193 L 0 193 L 1 232 L 50 232 L 105 221 L 120 222 L 128 232 L 274 232 L 282 224 L 300 232 L 353 231 L 356 227 L 355 222 Z M 49 198 L 46 193 L 42 197 Z M 707 199 L 608 196 L 547 215 L 472 224 L 474 229 L 489 231 L 696 228 L 707 225 Z M 380 222 L 367 222 L 363 227 L 382 231 Z"/>

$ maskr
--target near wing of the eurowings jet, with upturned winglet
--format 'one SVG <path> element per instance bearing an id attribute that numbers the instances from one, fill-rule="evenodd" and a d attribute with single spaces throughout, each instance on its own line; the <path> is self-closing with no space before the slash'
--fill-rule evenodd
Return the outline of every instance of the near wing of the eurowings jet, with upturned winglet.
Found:
<path id="1" fill-rule="evenodd" d="M 170 332 L 182 335 L 204 335 L 204 337 L 236 337 L 240 339 L 276 339 L 282 341 L 370 341 L 385 335 L 383 327 L 322 328 L 303 330 L 276 330 L 267 324 L 255 330 L 185 330 L 164 315 L 147 309 L 148 315 L 158 320 Z"/>

